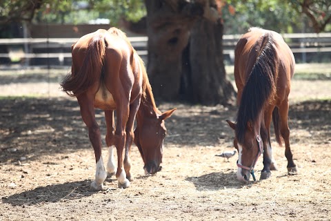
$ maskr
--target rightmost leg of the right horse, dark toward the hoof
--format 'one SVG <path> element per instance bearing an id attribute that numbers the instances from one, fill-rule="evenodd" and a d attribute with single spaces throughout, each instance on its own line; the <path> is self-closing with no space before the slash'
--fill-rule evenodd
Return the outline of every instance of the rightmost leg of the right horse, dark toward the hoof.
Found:
<path id="1" fill-rule="evenodd" d="M 279 108 L 281 117 L 281 136 L 285 142 L 285 157 L 288 159 L 288 174 L 297 174 L 297 166 L 294 164 L 293 155 L 290 148 L 290 128 L 288 128 L 288 100 L 283 102 Z"/>

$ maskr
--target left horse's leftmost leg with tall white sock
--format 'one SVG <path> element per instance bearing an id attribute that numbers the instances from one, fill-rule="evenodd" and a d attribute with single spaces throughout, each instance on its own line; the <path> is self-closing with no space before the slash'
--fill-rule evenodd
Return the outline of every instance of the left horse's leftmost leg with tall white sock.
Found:
<path id="1" fill-rule="evenodd" d="M 91 189 L 100 191 L 103 190 L 103 181 L 106 180 L 106 171 L 103 166 L 101 156 L 101 133 L 99 125 L 95 120 L 93 99 L 89 99 L 87 95 L 81 95 L 78 99 L 81 109 L 81 118 L 88 127 L 88 137 L 94 149 L 95 162 L 97 164 L 95 171 L 95 179 L 91 183 Z"/>

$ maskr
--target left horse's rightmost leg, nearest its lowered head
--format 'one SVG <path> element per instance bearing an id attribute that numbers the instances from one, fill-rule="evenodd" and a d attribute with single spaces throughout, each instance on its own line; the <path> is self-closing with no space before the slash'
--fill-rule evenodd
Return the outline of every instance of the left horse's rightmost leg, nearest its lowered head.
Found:
<path id="1" fill-rule="evenodd" d="M 124 170 L 126 171 L 126 178 L 130 181 L 133 181 L 133 176 L 130 173 L 131 164 L 130 164 L 130 151 L 131 145 L 134 140 L 134 131 L 133 124 L 134 119 L 137 115 L 140 105 L 140 98 L 136 99 L 132 104 L 130 104 L 130 114 L 128 118 L 128 123 L 126 124 L 126 153 L 124 156 Z"/>

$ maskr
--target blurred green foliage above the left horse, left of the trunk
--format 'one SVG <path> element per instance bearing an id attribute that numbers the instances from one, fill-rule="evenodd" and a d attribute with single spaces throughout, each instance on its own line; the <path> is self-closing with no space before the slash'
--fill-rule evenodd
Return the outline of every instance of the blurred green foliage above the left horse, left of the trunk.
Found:
<path id="1" fill-rule="evenodd" d="M 12 21 L 38 23 L 88 23 L 110 19 L 117 25 L 121 18 L 138 21 L 146 15 L 143 0 L 1 0 L 0 24 Z"/>

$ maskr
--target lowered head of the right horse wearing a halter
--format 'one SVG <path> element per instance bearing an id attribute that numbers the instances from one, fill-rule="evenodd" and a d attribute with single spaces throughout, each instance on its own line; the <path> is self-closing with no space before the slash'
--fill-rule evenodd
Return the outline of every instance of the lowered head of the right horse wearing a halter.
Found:
<path id="1" fill-rule="evenodd" d="M 226 120 L 229 126 L 237 131 L 237 124 L 230 122 L 230 120 Z M 248 182 L 250 180 L 250 175 L 254 177 L 254 166 L 257 163 L 257 159 L 263 152 L 263 142 L 259 133 L 255 133 L 257 131 L 253 128 L 252 123 L 248 122 L 245 128 L 245 133 L 243 135 L 243 139 L 239 139 L 237 133 L 234 136 L 234 147 L 237 148 L 238 151 L 238 161 L 237 161 L 237 179 L 239 181 Z"/>

